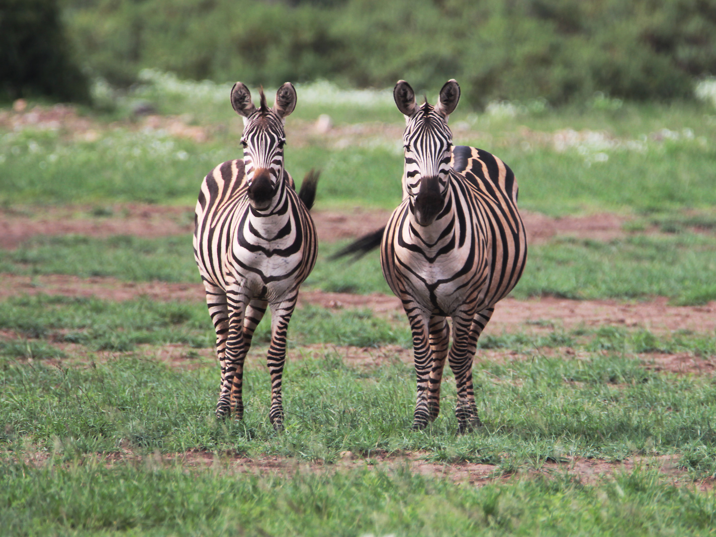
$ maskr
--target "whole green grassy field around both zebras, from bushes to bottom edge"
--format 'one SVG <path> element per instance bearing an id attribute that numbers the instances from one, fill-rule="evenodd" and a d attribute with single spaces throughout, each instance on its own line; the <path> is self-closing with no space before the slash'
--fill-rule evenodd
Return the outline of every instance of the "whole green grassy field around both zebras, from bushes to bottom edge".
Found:
<path id="1" fill-rule="evenodd" d="M 315 210 L 393 208 L 403 120 L 390 91 L 342 92 L 325 82 L 297 90 L 286 164 L 295 178 L 321 168 Z M 0 116 L 4 221 L 59 224 L 69 218 L 53 216 L 62 209 L 91 229 L 125 218 L 131 203 L 185 207 L 176 218 L 192 221 L 203 175 L 240 154 L 228 87 L 150 72 L 143 87 L 112 98 L 112 112 L 79 110 L 89 124 L 81 128 L 14 129 L 1 120 L 14 112 L 0 110 L 7 114 Z M 165 123 L 133 117 L 140 100 Z M 321 113 L 332 118 L 328 135 L 314 128 Z M 173 133 L 171 121 L 202 129 L 205 140 Z M 531 245 L 514 297 L 716 300 L 710 105 L 503 102 L 480 113 L 458 108 L 450 122 L 456 143 L 511 165 L 521 208 L 550 218 L 612 213 L 623 222 L 614 238 L 568 233 Z M 329 261 L 345 244 L 321 243 L 306 289 L 390 294 L 375 253 Z M 33 293 L 58 274 L 88 286 L 199 282 L 189 233 L 35 235 L 0 249 L 0 276 L 23 276 Z M 481 340 L 485 359 L 474 367 L 485 427 L 458 435 L 450 372 L 440 417 L 425 431 L 409 428 L 415 374 L 405 359 L 405 316 L 309 304 L 290 325 L 279 433 L 268 420 L 266 321 L 248 359 L 245 419 L 218 422 L 214 334 L 203 301 L 52 289 L 4 296 L 0 534 L 712 533 L 715 496 L 700 490 L 716 477 L 712 376 L 645 364 L 667 354 L 710 363 L 715 332 L 564 328 L 549 319 L 513 332 L 496 327 Z M 665 458 L 671 474 L 649 462 Z M 579 474 L 570 469 L 575 460 L 609 471 Z M 432 470 L 420 473 L 417 463 Z M 490 465 L 489 475 L 451 477 L 470 464 Z"/>

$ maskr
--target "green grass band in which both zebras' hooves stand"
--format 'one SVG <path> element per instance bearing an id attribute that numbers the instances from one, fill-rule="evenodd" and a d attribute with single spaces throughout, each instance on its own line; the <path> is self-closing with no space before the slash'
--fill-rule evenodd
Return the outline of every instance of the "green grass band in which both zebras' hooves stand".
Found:
<path id="1" fill-rule="evenodd" d="M 0 359 L 0 443 L 24 453 L 32 442 L 63 458 L 120 446 L 329 462 L 344 450 L 367 457 L 375 450 L 424 450 L 434 460 L 490 463 L 502 471 L 565 455 L 623 460 L 676 453 L 697 474 L 716 473 L 716 387 L 706 377 L 650 372 L 639 360 L 614 352 L 580 359 L 533 354 L 505 364 L 478 360 L 476 398 L 485 427 L 456 435 L 450 373 L 440 417 L 415 432 L 411 364 L 365 369 L 344 364 L 339 350 L 315 358 L 291 354 L 281 434 L 268 421 L 269 375 L 262 358 L 248 362 L 240 423 L 213 416 L 216 365 L 185 371 L 120 357 L 74 369 Z"/>

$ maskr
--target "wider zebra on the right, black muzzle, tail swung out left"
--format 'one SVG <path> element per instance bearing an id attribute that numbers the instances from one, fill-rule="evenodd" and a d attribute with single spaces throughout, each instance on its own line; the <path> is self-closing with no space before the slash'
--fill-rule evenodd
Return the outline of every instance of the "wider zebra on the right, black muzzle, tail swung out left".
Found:
<path id="1" fill-rule="evenodd" d="M 475 147 L 453 147 L 448 116 L 460 100 L 454 79 L 437 105 L 415 103 L 410 84 L 393 90 L 405 115 L 403 200 L 384 230 L 337 256 L 381 244 L 380 263 L 410 321 L 417 372 L 413 428 L 440 412 L 445 359 L 455 374 L 460 432 L 481 425 L 473 391 L 478 338 L 495 303 L 517 284 L 525 266 L 525 229 L 517 211 L 517 183 L 499 158 Z M 382 237 L 380 241 L 379 237 Z M 453 345 L 448 350 L 453 319 Z"/>

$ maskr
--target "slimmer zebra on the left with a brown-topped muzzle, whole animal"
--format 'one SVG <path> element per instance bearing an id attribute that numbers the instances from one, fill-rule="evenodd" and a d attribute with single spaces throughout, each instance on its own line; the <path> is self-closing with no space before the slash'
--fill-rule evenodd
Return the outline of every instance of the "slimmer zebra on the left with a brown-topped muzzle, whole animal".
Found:
<path id="1" fill-rule="evenodd" d="M 195 211 L 194 257 L 216 329 L 221 364 L 216 416 L 236 407 L 243 418 L 243 362 L 259 321 L 271 309 L 269 419 L 283 427 L 281 377 L 286 330 L 299 286 L 316 262 L 316 228 L 309 215 L 318 174 L 306 175 L 296 194 L 284 169 L 284 122 L 296 107 L 296 89 L 286 82 L 273 108 L 251 102 L 241 82 L 231 89 L 231 105 L 243 117 L 243 160 L 216 166 L 204 178 Z"/>

